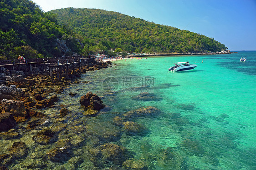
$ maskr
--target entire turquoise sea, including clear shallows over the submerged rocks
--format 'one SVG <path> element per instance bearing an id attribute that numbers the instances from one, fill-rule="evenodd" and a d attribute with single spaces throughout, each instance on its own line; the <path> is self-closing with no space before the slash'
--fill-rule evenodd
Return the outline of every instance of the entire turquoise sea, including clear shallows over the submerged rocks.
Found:
<path id="1" fill-rule="evenodd" d="M 241 56 L 247 61 L 240 62 Z M 185 61 L 198 66 L 190 71 L 168 71 L 174 62 Z M 42 169 L 110 169 L 116 166 L 114 162 L 98 166 L 88 158 L 89 147 L 107 142 L 127 148 L 131 154 L 128 159 L 148 170 L 256 169 L 256 51 L 118 60 L 108 69 L 87 72 L 80 81 L 85 83 L 73 84 L 59 96 L 59 104 L 72 110 L 65 120 L 52 115 L 59 111 L 57 108 L 43 110 L 50 116 L 46 126 L 67 124 L 67 132 L 60 132 L 59 140 L 70 136 L 83 139 L 72 150 L 71 159 L 78 157 L 80 161 L 47 160 Z M 88 91 L 99 95 L 108 106 L 95 117 L 84 116 L 78 102 Z M 70 92 L 77 95 L 71 98 Z M 140 94 L 146 94 L 146 98 L 138 98 Z M 143 132 L 128 133 L 113 125 L 116 116 L 148 106 L 161 112 L 132 120 L 144 126 Z M 77 132 L 75 127 L 83 130 Z M 25 140 L 30 150 L 28 157 L 11 165 L 13 169 L 26 168 L 23 164 L 30 155 L 56 146 L 33 143 L 33 133 L 36 130 L 19 139 Z M 110 137 L 102 137 L 106 134 Z M 36 159 L 41 161 L 41 157 Z"/>

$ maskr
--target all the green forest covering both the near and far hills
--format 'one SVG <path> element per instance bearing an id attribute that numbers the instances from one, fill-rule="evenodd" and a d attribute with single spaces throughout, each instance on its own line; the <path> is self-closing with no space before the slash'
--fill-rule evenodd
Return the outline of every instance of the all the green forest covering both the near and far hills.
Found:
<path id="1" fill-rule="evenodd" d="M 66 8 L 43 12 L 30 0 L 0 1 L 0 59 L 78 53 L 216 52 L 225 45 L 187 30 L 117 12 Z M 110 54 L 110 53 L 109 53 Z M 113 54 L 111 54 L 113 55 Z"/>

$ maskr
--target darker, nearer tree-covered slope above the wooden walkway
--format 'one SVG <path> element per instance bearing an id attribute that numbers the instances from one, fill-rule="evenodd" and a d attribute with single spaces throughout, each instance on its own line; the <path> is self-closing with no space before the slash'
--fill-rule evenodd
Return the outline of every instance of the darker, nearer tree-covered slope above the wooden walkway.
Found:
<path id="1" fill-rule="evenodd" d="M 57 38 L 62 48 L 56 43 Z M 30 0 L 0 1 L 1 59 L 17 59 L 18 55 L 51 57 L 61 55 L 63 50 L 80 52 L 81 46 L 72 30 L 66 25 L 58 25 L 54 15 L 42 12 Z"/>

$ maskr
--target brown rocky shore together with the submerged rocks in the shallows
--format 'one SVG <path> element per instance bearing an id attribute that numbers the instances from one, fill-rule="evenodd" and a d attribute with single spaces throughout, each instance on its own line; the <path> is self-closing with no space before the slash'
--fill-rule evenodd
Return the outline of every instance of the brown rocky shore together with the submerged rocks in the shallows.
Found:
<path id="1" fill-rule="evenodd" d="M 111 65 L 110 61 L 86 65 L 81 71 Z M 89 91 L 82 95 L 78 112 L 59 102 L 66 87 L 82 83 L 79 70 L 60 79 L 43 74 L 25 76 L 23 72 L 10 75 L 9 70 L 1 70 L 0 170 L 148 169 L 148 162 L 134 159 L 119 140 L 123 133 L 147 134 L 148 130 L 134 120 L 159 115 L 159 109 L 142 107 L 119 113 L 109 123 L 97 123 L 92 117 L 111 110 L 97 94 Z M 141 95 L 139 100 L 154 97 Z M 70 92 L 69 96 L 76 97 L 77 93 Z"/>

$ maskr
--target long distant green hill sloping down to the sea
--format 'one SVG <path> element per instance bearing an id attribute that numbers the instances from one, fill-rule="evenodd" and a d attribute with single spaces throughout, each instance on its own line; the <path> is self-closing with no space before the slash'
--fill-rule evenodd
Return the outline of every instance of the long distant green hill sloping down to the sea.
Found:
<path id="1" fill-rule="evenodd" d="M 84 53 L 122 48 L 127 52 L 216 52 L 225 45 L 213 38 L 154 24 L 118 12 L 66 8 L 52 10 L 60 24 L 81 35 Z"/>

